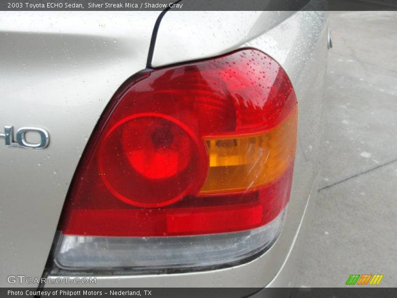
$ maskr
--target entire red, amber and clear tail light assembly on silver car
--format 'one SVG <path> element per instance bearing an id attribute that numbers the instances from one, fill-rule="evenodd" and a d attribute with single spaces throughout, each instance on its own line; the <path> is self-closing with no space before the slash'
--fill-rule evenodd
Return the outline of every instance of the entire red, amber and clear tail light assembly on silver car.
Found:
<path id="1" fill-rule="evenodd" d="M 264 251 L 282 226 L 296 134 L 291 82 L 258 50 L 133 76 L 74 175 L 56 264 L 193 270 Z"/>

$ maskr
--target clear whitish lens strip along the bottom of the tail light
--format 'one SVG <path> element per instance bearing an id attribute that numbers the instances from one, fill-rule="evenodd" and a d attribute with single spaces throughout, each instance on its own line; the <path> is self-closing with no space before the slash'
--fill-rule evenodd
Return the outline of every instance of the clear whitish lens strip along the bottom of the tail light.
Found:
<path id="1" fill-rule="evenodd" d="M 64 270 L 150 273 L 214 269 L 241 263 L 268 249 L 278 237 L 285 210 L 269 224 L 234 232 L 177 237 L 62 235 L 55 263 Z"/>

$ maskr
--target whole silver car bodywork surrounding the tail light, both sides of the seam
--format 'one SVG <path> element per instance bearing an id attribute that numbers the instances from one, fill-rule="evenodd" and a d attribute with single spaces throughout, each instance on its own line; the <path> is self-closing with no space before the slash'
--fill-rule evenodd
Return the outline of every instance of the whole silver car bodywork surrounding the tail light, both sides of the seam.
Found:
<path id="1" fill-rule="evenodd" d="M 7 21 L 0 25 L 1 34 L 15 39 L 12 44 L 0 44 L 0 53 L 7 55 L 0 65 L 9 69 L 7 75 L 1 72 L 1 84 L 6 90 L 3 94 L 8 101 L 0 110 L 0 127 L 38 126 L 51 135 L 50 146 L 45 150 L 0 146 L 1 166 L 7 169 L 0 173 L 3 189 L 0 249 L 5 256 L 1 260 L 4 262 L 0 269 L 1 285 L 10 272 L 33 277 L 41 275 L 68 185 L 87 138 L 117 87 L 145 67 L 150 40 L 147 32 L 152 30 L 158 15 L 117 12 L 103 13 L 99 17 L 98 13 L 70 13 L 62 23 L 56 25 L 55 21 L 46 19 L 40 27 L 40 22 L 34 20 L 40 19 L 42 14 L 29 13 L 23 18 L 24 24 L 15 24 L 16 14 L 8 13 L 4 18 Z M 59 18 L 64 15 L 59 13 Z M 47 17 L 53 18 L 54 14 Z M 100 26 L 104 22 L 102 19 L 109 20 L 113 29 L 101 31 L 104 30 Z M 327 12 L 322 11 L 169 11 L 164 15 L 154 48 L 153 67 L 255 47 L 272 56 L 290 76 L 300 113 L 299 145 L 286 223 L 275 244 L 249 263 L 181 274 L 98 276 L 97 287 L 290 284 L 293 272 L 290 270 L 292 258 L 288 256 L 296 258 L 299 255 L 293 244 L 302 238 L 297 236 L 303 215 L 309 210 L 308 202 L 313 202 L 317 193 L 327 55 L 326 22 Z M 53 26 L 49 27 L 49 23 Z M 83 23 L 86 27 L 81 26 Z M 99 29 L 93 28 L 93 23 Z M 67 31 L 70 32 L 67 34 Z M 93 49 L 98 53 L 93 55 Z M 49 57 L 54 57 L 56 62 Z M 24 80 L 22 88 L 12 87 L 11 82 L 16 79 Z M 23 106 L 29 112 L 23 112 Z"/>

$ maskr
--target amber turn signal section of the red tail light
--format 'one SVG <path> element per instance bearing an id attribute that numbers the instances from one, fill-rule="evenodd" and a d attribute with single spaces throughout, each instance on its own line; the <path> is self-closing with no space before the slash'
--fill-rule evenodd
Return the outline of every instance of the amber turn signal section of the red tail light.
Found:
<path id="1" fill-rule="evenodd" d="M 265 133 L 206 139 L 209 174 L 199 195 L 247 192 L 281 176 L 295 158 L 297 111 Z"/>

